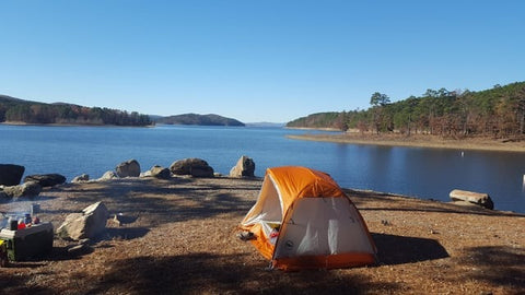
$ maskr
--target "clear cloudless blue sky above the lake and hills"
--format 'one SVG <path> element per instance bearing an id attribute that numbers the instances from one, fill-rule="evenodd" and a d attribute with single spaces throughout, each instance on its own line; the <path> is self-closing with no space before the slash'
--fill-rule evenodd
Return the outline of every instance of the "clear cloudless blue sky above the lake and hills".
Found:
<path id="1" fill-rule="evenodd" d="M 525 81 L 525 1 L 0 1 L 0 94 L 285 122 Z"/>

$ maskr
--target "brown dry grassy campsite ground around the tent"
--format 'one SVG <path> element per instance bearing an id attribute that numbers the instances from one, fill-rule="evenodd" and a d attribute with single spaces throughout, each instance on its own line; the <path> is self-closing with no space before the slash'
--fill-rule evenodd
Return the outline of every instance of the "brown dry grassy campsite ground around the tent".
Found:
<path id="1" fill-rule="evenodd" d="M 129 222 L 83 252 L 56 239 L 43 261 L 0 270 L 5 294 L 518 294 L 525 293 L 525 216 L 348 190 L 380 250 L 376 266 L 267 271 L 235 237 L 258 179 L 121 179 L 46 190 L 55 227 L 102 200 Z M 2 203 L 0 211 L 26 206 Z M 386 224 L 386 225 L 385 225 Z"/>

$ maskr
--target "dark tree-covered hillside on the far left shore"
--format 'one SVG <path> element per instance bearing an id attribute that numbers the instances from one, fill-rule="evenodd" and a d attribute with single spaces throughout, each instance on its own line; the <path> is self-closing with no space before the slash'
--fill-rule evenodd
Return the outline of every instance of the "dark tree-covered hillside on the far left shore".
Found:
<path id="1" fill-rule="evenodd" d="M 44 104 L 0 95 L 0 122 L 148 126 L 148 115 L 71 104 Z"/>

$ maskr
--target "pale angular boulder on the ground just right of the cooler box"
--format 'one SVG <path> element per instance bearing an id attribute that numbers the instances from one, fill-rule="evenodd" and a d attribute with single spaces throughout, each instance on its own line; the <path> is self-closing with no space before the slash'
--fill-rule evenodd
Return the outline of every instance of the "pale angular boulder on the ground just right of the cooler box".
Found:
<path id="1" fill-rule="evenodd" d="M 102 202 L 96 202 L 82 210 L 82 213 L 72 213 L 58 227 L 57 234 L 61 238 L 80 240 L 94 238 L 106 229 L 109 213 Z"/>

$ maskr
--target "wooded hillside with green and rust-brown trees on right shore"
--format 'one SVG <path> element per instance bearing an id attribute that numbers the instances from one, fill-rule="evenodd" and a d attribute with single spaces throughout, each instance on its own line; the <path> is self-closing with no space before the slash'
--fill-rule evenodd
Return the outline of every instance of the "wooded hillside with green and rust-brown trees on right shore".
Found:
<path id="1" fill-rule="evenodd" d="M 525 133 L 525 82 L 491 90 L 428 90 L 390 103 L 374 93 L 366 110 L 322 113 L 293 120 L 287 127 L 358 129 L 362 132 L 397 131 L 444 137 L 490 135 L 508 138 Z"/>

